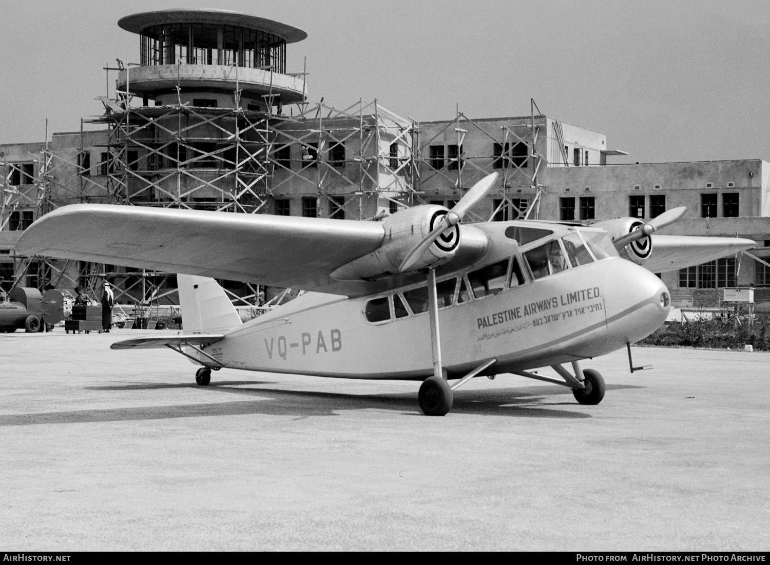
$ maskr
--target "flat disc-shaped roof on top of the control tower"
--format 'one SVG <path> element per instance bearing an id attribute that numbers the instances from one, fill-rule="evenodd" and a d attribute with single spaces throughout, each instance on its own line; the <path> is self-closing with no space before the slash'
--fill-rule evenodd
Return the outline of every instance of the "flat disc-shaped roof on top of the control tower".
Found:
<path id="1" fill-rule="evenodd" d="M 286 43 L 302 41 L 307 37 L 306 32 L 291 25 L 274 22 L 271 19 L 259 18 L 256 15 L 233 12 L 232 10 L 209 10 L 206 8 L 171 8 L 156 12 L 140 12 L 127 15 L 118 20 L 120 28 L 126 32 L 140 33 L 142 28 L 149 25 L 164 24 L 209 24 L 209 25 L 238 25 L 243 28 L 258 29 L 273 35 L 278 35 Z"/>

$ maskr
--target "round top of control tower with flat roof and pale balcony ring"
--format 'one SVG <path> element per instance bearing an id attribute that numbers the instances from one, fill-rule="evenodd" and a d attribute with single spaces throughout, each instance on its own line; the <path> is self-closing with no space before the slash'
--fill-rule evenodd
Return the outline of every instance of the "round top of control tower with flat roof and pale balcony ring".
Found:
<path id="1" fill-rule="evenodd" d="M 145 105 L 201 100 L 272 111 L 305 101 L 303 77 L 286 75 L 286 45 L 307 37 L 301 29 L 206 9 L 142 12 L 118 25 L 139 35 L 141 66 L 120 71 L 117 88 L 142 96 Z"/>

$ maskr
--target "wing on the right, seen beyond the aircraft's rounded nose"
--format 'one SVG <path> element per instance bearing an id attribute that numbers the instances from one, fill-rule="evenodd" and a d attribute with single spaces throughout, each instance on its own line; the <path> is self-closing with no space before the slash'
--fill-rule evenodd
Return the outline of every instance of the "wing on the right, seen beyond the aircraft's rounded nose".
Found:
<path id="1" fill-rule="evenodd" d="M 652 253 L 643 266 L 652 272 L 674 271 L 700 265 L 750 249 L 751 239 L 738 237 L 661 236 L 654 234 Z"/>

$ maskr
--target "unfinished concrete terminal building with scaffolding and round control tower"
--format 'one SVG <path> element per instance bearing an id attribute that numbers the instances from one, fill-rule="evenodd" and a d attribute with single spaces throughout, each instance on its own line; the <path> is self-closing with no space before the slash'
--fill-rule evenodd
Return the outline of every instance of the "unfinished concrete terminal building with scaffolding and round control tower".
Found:
<path id="1" fill-rule="evenodd" d="M 762 160 L 608 165 L 601 132 L 544 115 L 414 122 L 375 100 L 310 104 L 304 69 L 287 72 L 287 45 L 306 33 L 221 10 L 177 9 L 122 18 L 139 36 L 139 64 L 105 69 L 96 131 L 0 145 L 2 287 L 82 286 L 107 277 L 119 303 L 176 303 L 175 273 L 16 256 L 21 230 L 79 202 L 377 220 L 424 202 L 451 206 L 500 172 L 470 221 L 539 218 L 591 222 L 654 217 L 688 206 L 668 232 L 770 240 L 770 163 Z M 577 193 L 577 194 L 576 194 Z M 216 234 L 213 234 L 216 236 Z M 770 241 L 768 241 L 770 243 Z M 768 285 L 770 249 L 664 275 L 679 303 L 702 289 Z M 692 271 L 692 272 L 690 272 Z M 684 277 L 684 278 L 682 278 Z M 236 303 L 263 306 L 283 289 L 223 281 Z M 762 293 L 757 295 L 762 299 Z"/>

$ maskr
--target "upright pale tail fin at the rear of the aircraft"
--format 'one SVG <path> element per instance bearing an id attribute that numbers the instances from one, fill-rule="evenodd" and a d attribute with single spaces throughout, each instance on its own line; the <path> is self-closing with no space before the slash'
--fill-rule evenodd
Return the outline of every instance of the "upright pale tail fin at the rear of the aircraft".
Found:
<path id="1" fill-rule="evenodd" d="M 206 276 L 177 275 L 176 282 L 185 333 L 210 332 L 241 325 L 235 306 L 216 280 Z"/>

